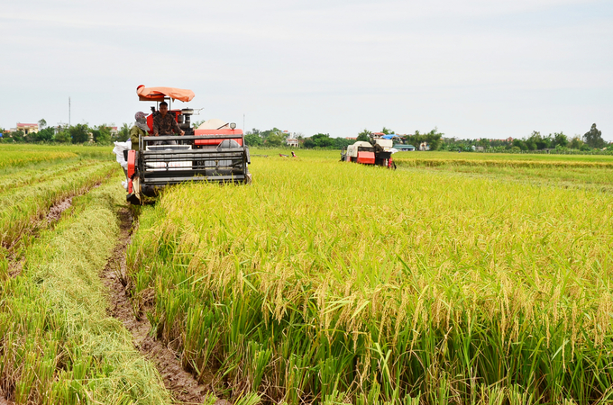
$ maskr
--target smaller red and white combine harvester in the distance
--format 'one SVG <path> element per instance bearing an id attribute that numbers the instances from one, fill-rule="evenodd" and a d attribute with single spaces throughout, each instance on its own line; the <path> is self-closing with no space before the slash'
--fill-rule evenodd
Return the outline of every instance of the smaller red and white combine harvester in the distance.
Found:
<path id="1" fill-rule="evenodd" d="M 353 145 L 343 148 L 341 150 L 341 161 L 395 169 L 396 164 L 391 157 L 396 152 L 393 146 L 392 137 L 383 133 L 372 133 L 368 142 L 358 140 Z"/>

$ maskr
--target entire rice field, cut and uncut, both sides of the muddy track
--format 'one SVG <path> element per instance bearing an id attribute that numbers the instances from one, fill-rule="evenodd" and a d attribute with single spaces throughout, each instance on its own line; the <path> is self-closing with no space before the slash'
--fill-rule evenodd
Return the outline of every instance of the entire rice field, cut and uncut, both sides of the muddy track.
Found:
<path id="1" fill-rule="evenodd" d="M 134 314 L 205 403 L 613 403 L 611 157 L 279 153 L 135 210 Z M 97 277 L 125 206 L 110 150 L 0 157 L 0 403 L 176 403 Z"/>

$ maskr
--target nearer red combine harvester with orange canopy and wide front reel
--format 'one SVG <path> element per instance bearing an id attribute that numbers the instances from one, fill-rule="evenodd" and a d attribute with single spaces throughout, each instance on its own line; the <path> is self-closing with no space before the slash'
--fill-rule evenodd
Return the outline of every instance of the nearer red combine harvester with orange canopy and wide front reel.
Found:
<path id="1" fill-rule="evenodd" d="M 141 101 L 169 103 L 173 100 L 189 102 L 195 95 L 191 90 L 144 85 L 138 86 L 136 93 Z M 153 116 L 160 113 L 156 107 L 151 107 L 151 114 L 147 116 L 151 136 L 139 139 L 138 151 L 127 151 L 128 202 L 140 205 L 168 184 L 195 181 L 251 183 L 249 148 L 244 143 L 242 130 L 236 130 L 236 124 L 224 123 L 215 129 L 194 130 L 191 127 L 193 109 L 169 108 L 168 113 L 172 114 L 185 135 L 154 137 Z M 160 145 L 166 140 L 174 140 L 177 145 Z"/>

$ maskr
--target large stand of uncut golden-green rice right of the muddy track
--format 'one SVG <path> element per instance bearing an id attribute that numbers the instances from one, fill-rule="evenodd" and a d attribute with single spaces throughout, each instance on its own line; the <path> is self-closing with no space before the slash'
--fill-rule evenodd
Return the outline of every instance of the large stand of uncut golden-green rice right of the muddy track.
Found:
<path id="1" fill-rule="evenodd" d="M 254 159 L 147 207 L 137 304 L 216 388 L 289 404 L 613 398 L 608 193 Z"/>

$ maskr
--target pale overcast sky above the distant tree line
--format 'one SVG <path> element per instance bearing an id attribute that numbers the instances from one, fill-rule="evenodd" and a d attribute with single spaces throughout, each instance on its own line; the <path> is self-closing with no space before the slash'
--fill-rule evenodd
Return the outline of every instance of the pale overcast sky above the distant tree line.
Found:
<path id="1" fill-rule="evenodd" d="M 613 140 L 613 1 L 3 2 L 0 127 L 132 124 L 137 85 L 247 130 Z"/>

